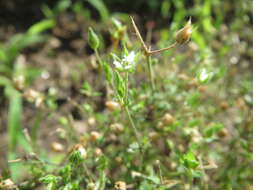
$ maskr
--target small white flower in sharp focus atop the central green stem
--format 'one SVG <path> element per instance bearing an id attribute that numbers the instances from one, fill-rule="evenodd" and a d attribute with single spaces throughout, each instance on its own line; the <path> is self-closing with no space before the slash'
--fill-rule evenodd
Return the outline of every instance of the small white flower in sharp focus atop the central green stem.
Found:
<path id="1" fill-rule="evenodd" d="M 128 55 L 124 55 L 122 60 L 114 60 L 113 64 L 116 69 L 125 71 L 130 70 L 135 66 L 136 54 L 134 51 L 131 51 Z"/>

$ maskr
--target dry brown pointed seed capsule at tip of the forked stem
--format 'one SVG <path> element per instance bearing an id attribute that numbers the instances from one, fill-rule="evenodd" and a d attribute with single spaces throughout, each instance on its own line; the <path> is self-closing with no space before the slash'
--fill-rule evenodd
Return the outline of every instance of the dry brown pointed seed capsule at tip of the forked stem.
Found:
<path id="1" fill-rule="evenodd" d="M 184 44 L 189 41 L 192 34 L 192 25 L 191 19 L 187 22 L 187 24 L 180 29 L 176 34 L 176 42 L 179 44 Z"/>

